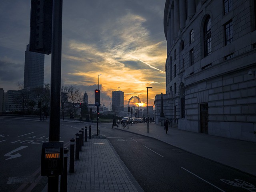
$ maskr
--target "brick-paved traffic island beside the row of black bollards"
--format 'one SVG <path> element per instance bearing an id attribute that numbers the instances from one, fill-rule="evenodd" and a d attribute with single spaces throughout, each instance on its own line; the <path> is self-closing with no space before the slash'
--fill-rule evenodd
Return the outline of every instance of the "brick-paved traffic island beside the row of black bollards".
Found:
<path id="1" fill-rule="evenodd" d="M 142 192 L 108 139 L 84 142 L 75 173 L 68 173 L 69 192 Z"/>

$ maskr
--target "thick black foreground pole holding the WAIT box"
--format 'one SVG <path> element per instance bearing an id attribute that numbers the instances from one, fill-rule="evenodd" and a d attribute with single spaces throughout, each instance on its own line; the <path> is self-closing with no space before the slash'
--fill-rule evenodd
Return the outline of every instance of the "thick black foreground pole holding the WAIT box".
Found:
<path id="1" fill-rule="evenodd" d="M 60 81 L 62 42 L 62 0 L 52 6 L 52 59 L 49 141 L 60 141 Z M 58 191 L 59 176 L 48 177 L 48 192 Z"/>

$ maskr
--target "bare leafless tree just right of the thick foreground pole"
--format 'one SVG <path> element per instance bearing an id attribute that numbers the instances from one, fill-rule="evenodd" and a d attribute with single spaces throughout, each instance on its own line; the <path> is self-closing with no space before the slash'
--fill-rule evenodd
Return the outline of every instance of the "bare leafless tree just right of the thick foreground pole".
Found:
<path id="1" fill-rule="evenodd" d="M 72 108 L 74 113 L 76 114 L 76 110 L 78 109 L 77 104 L 82 102 L 83 96 L 80 92 L 80 88 L 76 88 L 73 85 L 68 87 L 68 101 L 72 104 Z"/>

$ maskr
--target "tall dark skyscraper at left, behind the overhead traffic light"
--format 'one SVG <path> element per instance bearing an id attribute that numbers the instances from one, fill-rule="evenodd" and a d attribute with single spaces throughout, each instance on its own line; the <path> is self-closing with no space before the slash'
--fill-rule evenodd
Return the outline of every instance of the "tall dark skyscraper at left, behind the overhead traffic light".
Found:
<path id="1" fill-rule="evenodd" d="M 44 86 L 44 54 L 25 51 L 24 89 Z"/>

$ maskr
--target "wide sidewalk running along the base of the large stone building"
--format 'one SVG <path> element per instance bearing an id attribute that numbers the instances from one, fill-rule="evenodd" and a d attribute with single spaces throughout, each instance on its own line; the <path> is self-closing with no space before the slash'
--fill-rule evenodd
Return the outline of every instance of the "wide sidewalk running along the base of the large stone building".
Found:
<path id="1" fill-rule="evenodd" d="M 166 134 L 164 126 L 154 123 L 149 123 L 149 132 L 147 132 L 146 123 L 133 124 L 129 126 L 129 130 L 124 131 L 156 138 L 192 154 L 256 176 L 255 142 L 188 132 L 171 127 Z"/>

